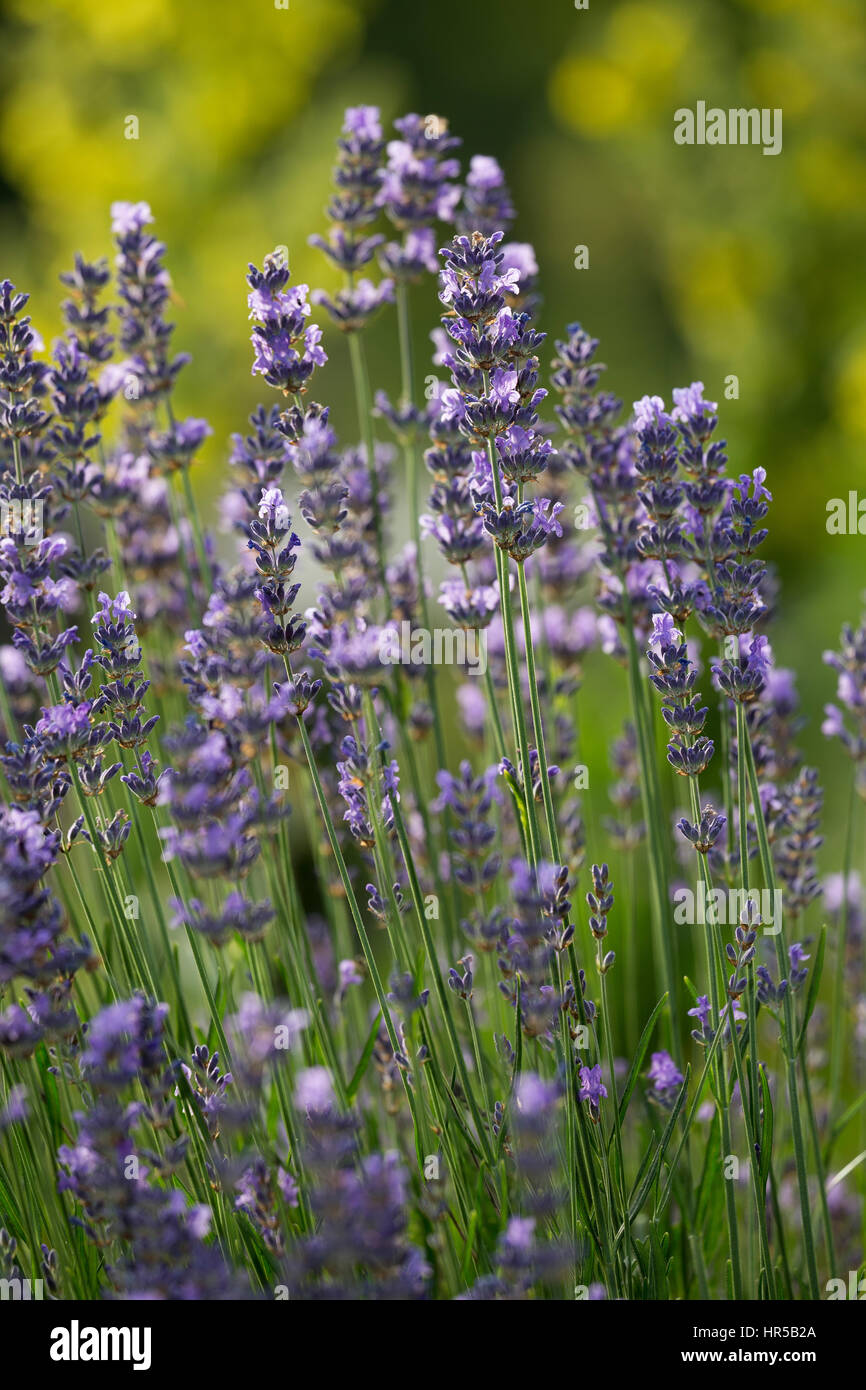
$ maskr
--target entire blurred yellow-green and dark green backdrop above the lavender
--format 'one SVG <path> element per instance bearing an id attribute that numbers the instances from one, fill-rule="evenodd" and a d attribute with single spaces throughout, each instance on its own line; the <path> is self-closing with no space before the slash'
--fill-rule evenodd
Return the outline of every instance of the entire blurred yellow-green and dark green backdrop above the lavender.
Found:
<path id="1" fill-rule="evenodd" d="M 0 54 L 0 271 L 31 291 L 47 342 L 58 271 L 76 249 L 110 250 L 110 203 L 152 204 L 193 354 L 179 410 L 214 427 L 203 496 L 268 396 L 250 377 L 247 260 L 286 245 L 295 279 L 334 286 L 306 238 L 322 229 L 342 108 L 436 111 L 466 158 L 495 154 L 550 338 L 580 318 L 627 402 L 702 379 L 733 470 L 767 468 L 773 642 L 799 671 L 838 828 L 845 760 L 817 724 L 834 685 L 820 652 L 859 616 L 865 578 L 866 539 L 824 524 L 828 498 L 866 495 L 862 0 L 8 0 Z M 699 99 L 781 107 L 783 153 L 674 145 L 674 110 Z M 424 352 L 432 286 L 413 311 Z M 374 385 L 396 393 L 393 334 L 382 316 L 371 348 Z M 345 343 L 327 338 L 317 398 L 349 441 Z M 738 400 L 723 399 L 728 374 Z"/>

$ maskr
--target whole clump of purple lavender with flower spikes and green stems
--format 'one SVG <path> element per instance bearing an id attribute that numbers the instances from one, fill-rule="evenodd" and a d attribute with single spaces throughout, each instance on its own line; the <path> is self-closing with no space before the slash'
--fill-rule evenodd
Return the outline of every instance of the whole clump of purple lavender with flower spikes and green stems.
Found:
<path id="1" fill-rule="evenodd" d="M 499 164 L 395 126 L 346 113 L 310 239 L 339 289 L 249 265 L 270 395 L 220 532 L 152 210 L 114 204 L 113 267 L 76 254 L 50 353 L 0 286 L 3 1268 L 51 1298 L 820 1297 L 863 1208 L 858 855 L 827 933 L 766 473 L 728 475 L 699 382 L 623 417 L 577 322 L 546 366 Z M 341 336 L 357 424 L 314 399 Z M 853 808 L 863 630 L 827 660 Z M 591 682 L 631 706 L 610 778 Z"/>

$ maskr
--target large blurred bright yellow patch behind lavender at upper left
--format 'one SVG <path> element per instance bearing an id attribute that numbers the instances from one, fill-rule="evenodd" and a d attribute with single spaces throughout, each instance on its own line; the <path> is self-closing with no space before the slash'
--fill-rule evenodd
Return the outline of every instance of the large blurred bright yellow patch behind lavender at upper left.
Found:
<path id="1" fill-rule="evenodd" d="M 357 93 L 336 85 L 318 103 L 321 135 L 310 113 L 322 74 L 361 51 L 363 7 L 356 0 L 291 0 L 286 10 L 272 0 L 44 0 L 38 11 L 13 0 L 13 7 L 0 160 L 26 221 L 18 225 L 15 204 L 4 210 L 3 274 L 31 292 L 50 350 L 61 331 L 58 272 L 76 250 L 111 256 L 114 200 L 150 203 L 175 288 L 175 350 L 193 356 L 178 382 L 178 410 L 210 418 L 203 471 L 215 477 L 227 435 L 243 427 L 261 395 L 250 378 L 247 261 L 288 245 L 293 274 L 331 279 L 306 236 L 324 224 L 342 107 L 375 103 L 388 83 L 379 78 L 370 90 L 364 79 Z"/>

